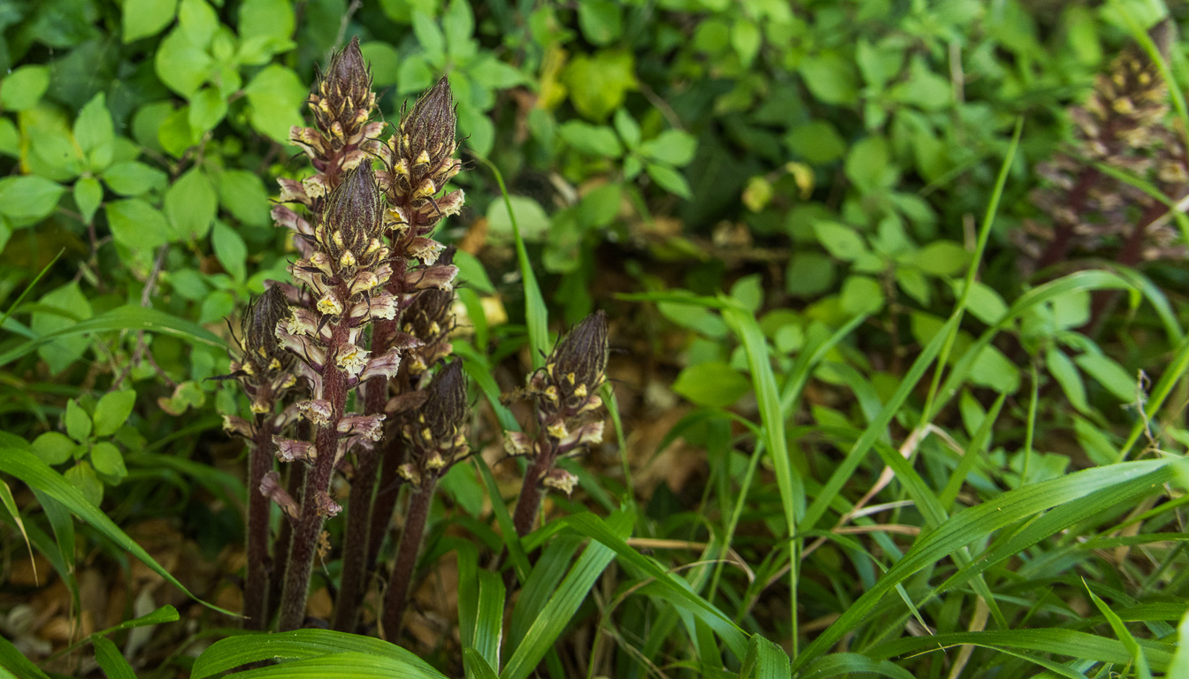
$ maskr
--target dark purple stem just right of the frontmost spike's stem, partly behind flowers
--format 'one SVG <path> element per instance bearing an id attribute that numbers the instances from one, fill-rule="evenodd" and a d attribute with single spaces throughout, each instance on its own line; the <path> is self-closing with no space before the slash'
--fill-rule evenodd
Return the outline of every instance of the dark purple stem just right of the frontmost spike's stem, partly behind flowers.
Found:
<path id="1" fill-rule="evenodd" d="M 384 353 L 396 338 L 397 321 L 378 321 L 372 329 L 372 351 Z M 388 378 L 371 378 L 364 392 L 364 413 L 384 413 L 388 402 Z M 395 436 L 394 436 L 395 438 Z M 376 496 L 376 473 L 380 463 L 379 444 L 360 448 L 356 459 L 356 473 L 351 483 L 347 503 L 347 533 L 342 547 L 342 578 L 335 601 L 333 628 L 354 631 L 359 616 L 359 603 L 367 591 L 367 539 L 371 527 L 372 499 Z"/>

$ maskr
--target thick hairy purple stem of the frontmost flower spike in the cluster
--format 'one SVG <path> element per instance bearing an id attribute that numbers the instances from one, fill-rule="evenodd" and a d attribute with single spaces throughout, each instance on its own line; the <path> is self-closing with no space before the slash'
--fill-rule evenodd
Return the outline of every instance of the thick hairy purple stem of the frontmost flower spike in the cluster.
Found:
<path id="1" fill-rule="evenodd" d="M 347 327 L 338 323 L 332 331 L 332 346 L 347 341 Z M 294 527 L 292 547 L 289 551 L 289 567 L 281 595 L 281 631 L 301 627 L 306 617 L 306 598 L 309 593 L 309 577 L 314 571 L 317 536 L 326 520 L 326 508 L 319 502 L 331 490 L 331 474 L 339 447 L 339 420 L 346 410 L 347 375 L 334 364 L 327 364 L 322 373 L 325 398 L 329 402 L 328 421 L 319 425 L 314 434 L 314 447 L 319 451 L 314 466 L 306 473 L 306 491 L 302 496 L 301 517 Z"/>

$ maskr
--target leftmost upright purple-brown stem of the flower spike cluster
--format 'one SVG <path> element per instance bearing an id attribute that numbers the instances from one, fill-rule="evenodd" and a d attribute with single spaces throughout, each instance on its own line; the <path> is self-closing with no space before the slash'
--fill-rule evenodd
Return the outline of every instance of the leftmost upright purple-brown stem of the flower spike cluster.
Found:
<path id="1" fill-rule="evenodd" d="M 246 629 L 263 630 L 268 621 L 269 498 L 260 492 L 264 474 L 272 469 L 271 413 L 257 414 L 252 448 L 247 453 L 247 577 L 244 584 Z"/>

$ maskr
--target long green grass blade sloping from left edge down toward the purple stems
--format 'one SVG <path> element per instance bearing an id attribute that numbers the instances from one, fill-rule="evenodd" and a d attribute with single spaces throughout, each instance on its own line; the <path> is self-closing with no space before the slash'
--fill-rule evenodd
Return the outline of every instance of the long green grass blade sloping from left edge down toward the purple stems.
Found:
<path id="1" fill-rule="evenodd" d="M 143 547 L 137 545 L 134 540 L 120 530 L 120 528 L 115 526 L 115 523 L 113 523 L 106 514 L 100 511 L 94 504 L 89 503 L 77 489 L 67 483 L 62 474 L 55 472 L 49 467 L 49 465 L 33 455 L 33 453 L 19 448 L 7 448 L 0 451 L 0 471 L 19 478 L 29 484 L 30 488 L 34 488 L 61 502 L 67 509 L 86 521 L 92 528 L 114 542 L 131 557 L 138 559 L 145 566 L 149 566 L 152 572 L 164 578 L 165 581 L 181 590 L 185 593 L 185 596 L 194 598 L 196 602 L 214 611 L 235 616 L 235 614 L 208 604 L 190 593 L 190 591 L 187 590 L 182 583 L 177 581 L 177 579 L 171 576 L 169 571 L 153 560 L 153 558 L 150 557 Z"/>

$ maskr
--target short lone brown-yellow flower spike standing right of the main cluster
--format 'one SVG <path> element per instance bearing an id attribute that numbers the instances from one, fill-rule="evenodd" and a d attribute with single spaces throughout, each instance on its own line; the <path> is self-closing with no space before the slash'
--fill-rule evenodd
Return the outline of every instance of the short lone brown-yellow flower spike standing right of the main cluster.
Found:
<path id="1" fill-rule="evenodd" d="M 536 435 L 504 433 L 504 451 L 530 460 L 514 516 L 521 535 L 533 529 L 543 489 L 568 495 L 578 482 L 554 466 L 558 458 L 581 453 L 603 440 L 603 420 L 593 414 L 603 405 L 598 390 L 606 379 L 606 314 L 599 310 L 574 326 L 554 347 L 545 367 L 529 376 Z"/>

